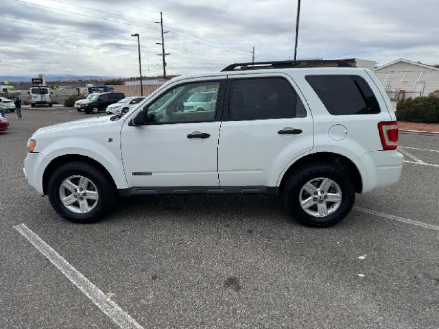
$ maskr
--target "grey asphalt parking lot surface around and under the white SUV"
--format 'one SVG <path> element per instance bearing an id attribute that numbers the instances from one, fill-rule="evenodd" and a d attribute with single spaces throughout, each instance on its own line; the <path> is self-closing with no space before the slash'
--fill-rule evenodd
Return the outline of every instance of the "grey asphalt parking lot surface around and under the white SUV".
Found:
<path id="1" fill-rule="evenodd" d="M 299 225 L 266 196 L 134 197 L 103 222 L 75 225 L 27 184 L 22 162 L 36 129 L 92 115 L 23 116 L 8 113 L 0 133 L 0 328 L 439 327 L 439 135 L 402 133 L 400 181 L 357 195 L 329 229 Z M 117 325 L 20 224 L 127 322 Z"/>

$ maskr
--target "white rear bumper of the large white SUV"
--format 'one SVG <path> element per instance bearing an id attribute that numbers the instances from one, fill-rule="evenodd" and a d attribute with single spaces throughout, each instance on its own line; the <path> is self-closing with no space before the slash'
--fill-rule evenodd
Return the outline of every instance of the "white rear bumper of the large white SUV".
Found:
<path id="1" fill-rule="evenodd" d="M 357 157 L 353 162 L 359 169 L 363 182 L 361 193 L 398 182 L 403 170 L 403 160 L 403 155 L 397 150 L 371 151 Z"/>

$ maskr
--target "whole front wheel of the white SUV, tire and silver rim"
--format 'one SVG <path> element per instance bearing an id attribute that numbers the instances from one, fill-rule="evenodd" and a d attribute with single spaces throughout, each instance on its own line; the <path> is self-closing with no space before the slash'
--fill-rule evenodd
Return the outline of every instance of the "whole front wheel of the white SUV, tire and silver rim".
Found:
<path id="1" fill-rule="evenodd" d="M 111 178 L 92 164 L 62 164 L 49 179 L 49 199 L 58 214 L 74 223 L 94 223 L 111 210 L 115 190 Z"/>

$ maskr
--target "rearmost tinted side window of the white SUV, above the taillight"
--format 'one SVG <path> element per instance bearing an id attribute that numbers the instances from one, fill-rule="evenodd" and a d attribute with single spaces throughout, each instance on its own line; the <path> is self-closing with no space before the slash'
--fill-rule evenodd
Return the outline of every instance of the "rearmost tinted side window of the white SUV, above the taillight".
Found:
<path id="1" fill-rule="evenodd" d="M 380 113 L 371 87 L 358 75 L 307 75 L 305 79 L 332 115 Z"/>

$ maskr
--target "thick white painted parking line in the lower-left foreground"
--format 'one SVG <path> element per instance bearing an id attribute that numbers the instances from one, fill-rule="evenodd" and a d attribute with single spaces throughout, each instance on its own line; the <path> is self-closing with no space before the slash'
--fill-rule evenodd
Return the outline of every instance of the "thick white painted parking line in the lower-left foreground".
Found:
<path id="1" fill-rule="evenodd" d="M 15 225 L 14 229 L 22 234 L 41 254 L 58 268 L 67 279 L 79 288 L 90 300 L 122 329 L 143 329 L 136 320 L 122 310 L 118 304 L 108 298 L 99 288 L 91 283 L 76 268 L 61 257 L 52 247 L 45 243 L 26 225 Z"/>

